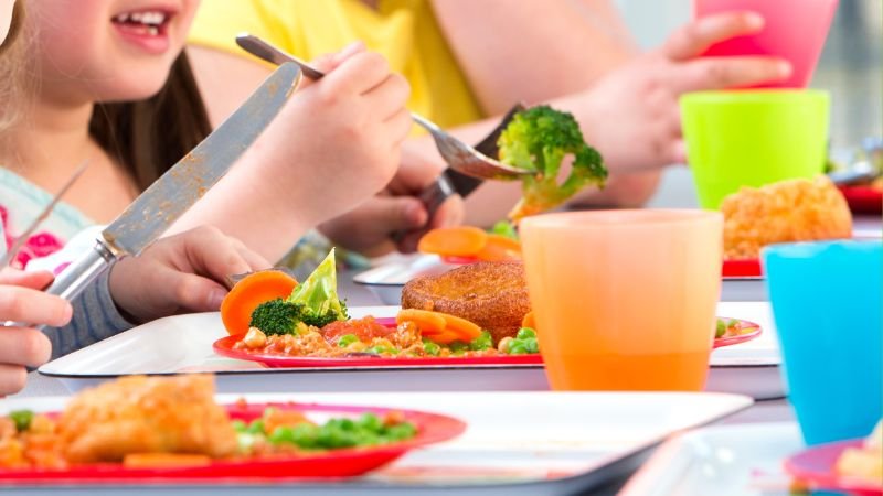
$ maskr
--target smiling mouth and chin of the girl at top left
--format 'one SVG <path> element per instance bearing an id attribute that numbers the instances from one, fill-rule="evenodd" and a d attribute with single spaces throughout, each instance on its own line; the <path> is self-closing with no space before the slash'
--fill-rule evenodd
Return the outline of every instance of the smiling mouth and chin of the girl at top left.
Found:
<path id="1" fill-rule="evenodd" d="M 4 1 L 4 0 L 0 0 Z M 75 103 L 156 94 L 183 50 L 200 0 L 30 0 L 50 97 Z"/>

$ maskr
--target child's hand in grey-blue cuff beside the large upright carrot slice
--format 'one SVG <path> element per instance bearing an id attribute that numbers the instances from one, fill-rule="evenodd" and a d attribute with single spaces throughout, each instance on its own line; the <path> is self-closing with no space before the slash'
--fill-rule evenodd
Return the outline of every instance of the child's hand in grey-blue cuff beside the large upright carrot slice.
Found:
<path id="1" fill-rule="evenodd" d="M 110 295 L 127 319 L 148 322 L 184 312 L 217 310 L 227 276 L 269 263 L 240 240 L 200 227 L 158 240 L 110 271 Z"/>

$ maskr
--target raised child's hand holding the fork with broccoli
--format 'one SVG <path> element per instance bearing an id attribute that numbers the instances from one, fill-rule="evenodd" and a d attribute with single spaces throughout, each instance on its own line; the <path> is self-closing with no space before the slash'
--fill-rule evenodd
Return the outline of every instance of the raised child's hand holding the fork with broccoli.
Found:
<path id="1" fill-rule="evenodd" d="M 381 55 L 353 45 L 318 65 L 331 69 L 291 97 L 262 137 L 258 161 L 268 183 L 260 196 L 288 198 L 308 225 L 380 192 L 412 126 L 409 87 Z"/>

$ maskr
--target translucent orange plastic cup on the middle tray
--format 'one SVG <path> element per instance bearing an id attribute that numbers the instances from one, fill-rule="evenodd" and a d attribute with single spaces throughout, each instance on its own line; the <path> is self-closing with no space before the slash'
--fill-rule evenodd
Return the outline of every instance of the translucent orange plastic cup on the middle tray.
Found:
<path id="1" fill-rule="evenodd" d="M 528 289 L 556 390 L 703 389 L 723 217 L 595 211 L 521 222 Z"/>

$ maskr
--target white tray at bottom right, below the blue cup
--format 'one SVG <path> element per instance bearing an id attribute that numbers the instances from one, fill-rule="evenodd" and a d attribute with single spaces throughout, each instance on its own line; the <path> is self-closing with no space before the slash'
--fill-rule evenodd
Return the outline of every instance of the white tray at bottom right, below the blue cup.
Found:
<path id="1" fill-rule="evenodd" d="M 802 449 L 794 422 L 699 429 L 656 450 L 620 496 L 787 495 L 781 463 Z"/>

